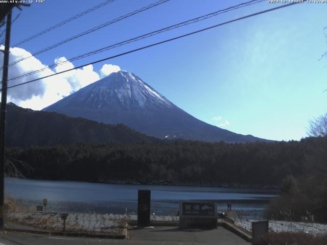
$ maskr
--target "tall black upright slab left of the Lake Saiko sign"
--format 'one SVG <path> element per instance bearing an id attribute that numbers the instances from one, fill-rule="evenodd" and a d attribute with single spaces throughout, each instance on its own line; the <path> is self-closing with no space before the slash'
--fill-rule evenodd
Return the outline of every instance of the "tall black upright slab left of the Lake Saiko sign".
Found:
<path id="1" fill-rule="evenodd" d="M 138 190 L 137 226 L 150 226 L 150 190 Z"/>

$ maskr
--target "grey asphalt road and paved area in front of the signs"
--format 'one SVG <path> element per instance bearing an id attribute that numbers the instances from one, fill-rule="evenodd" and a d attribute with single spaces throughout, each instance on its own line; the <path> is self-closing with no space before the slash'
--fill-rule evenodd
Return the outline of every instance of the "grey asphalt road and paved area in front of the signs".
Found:
<path id="1" fill-rule="evenodd" d="M 218 227 L 214 230 L 179 230 L 177 227 L 155 227 L 154 229 L 129 230 L 128 239 L 99 239 L 85 237 L 51 236 L 46 234 L 32 234 L 24 232 L 6 232 L 0 235 L 0 245 L 100 245 L 100 244 L 224 244 L 248 245 L 239 236 Z"/>

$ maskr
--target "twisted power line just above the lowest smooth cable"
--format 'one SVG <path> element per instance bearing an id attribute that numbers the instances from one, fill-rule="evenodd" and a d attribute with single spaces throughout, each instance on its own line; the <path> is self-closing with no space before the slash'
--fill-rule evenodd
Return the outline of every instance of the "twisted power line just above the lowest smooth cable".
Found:
<path id="1" fill-rule="evenodd" d="M 241 3 L 239 5 L 223 9 L 223 10 L 218 10 L 218 11 L 213 12 L 213 13 L 209 13 L 209 14 L 206 14 L 206 15 L 202 15 L 202 16 L 190 19 L 190 20 L 186 20 L 186 21 L 174 24 L 173 26 L 162 28 L 162 29 L 159 29 L 159 30 L 156 30 L 156 31 L 153 31 L 153 32 L 141 35 L 141 36 L 137 36 L 137 37 L 134 37 L 134 38 L 131 38 L 131 39 L 119 42 L 119 43 L 115 43 L 115 44 L 100 48 L 98 50 L 91 51 L 91 52 L 79 55 L 77 57 L 74 57 L 74 58 L 71 58 L 71 59 L 68 59 L 68 60 L 65 60 L 65 61 L 61 61 L 59 63 L 52 64 L 50 66 L 44 67 L 44 68 L 39 69 L 39 70 L 31 70 L 31 71 L 27 71 L 27 72 L 24 72 L 24 73 L 19 74 L 19 75 L 15 75 L 16 77 L 10 78 L 9 81 L 24 78 L 24 77 L 36 74 L 36 73 L 41 72 L 41 71 L 51 69 L 51 68 L 59 66 L 59 65 L 63 65 L 65 63 L 67 63 L 67 62 L 71 62 L 71 61 L 79 60 L 79 59 L 82 59 L 82 58 L 85 58 L 85 57 L 88 57 L 88 56 L 91 56 L 91 55 L 99 54 L 101 52 L 111 50 L 112 48 L 115 48 L 115 47 L 119 47 L 119 46 L 122 46 L 122 45 L 125 45 L 125 44 L 128 44 L 128 43 L 131 43 L 131 42 L 135 42 L 135 41 L 138 41 L 138 40 L 141 40 L 141 39 L 145 39 L 145 38 L 157 35 L 157 34 L 162 33 L 162 32 L 166 32 L 166 31 L 176 29 L 176 28 L 179 28 L 179 27 L 182 27 L 182 26 L 186 26 L 188 24 L 195 23 L 195 22 L 207 19 L 207 18 L 211 18 L 211 17 L 214 17 L 214 16 L 222 14 L 222 13 L 226 13 L 226 12 L 231 11 L 231 10 L 246 7 L 246 6 L 249 6 L 249 5 L 252 5 L 252 4 L 256 4 L 256 3 L 261 3 L 263 1 L 266 1 L 266 0 L 252 0 L 252 1 L 249 1 L 249 2 L 246 2 L 246 3 Z"/>

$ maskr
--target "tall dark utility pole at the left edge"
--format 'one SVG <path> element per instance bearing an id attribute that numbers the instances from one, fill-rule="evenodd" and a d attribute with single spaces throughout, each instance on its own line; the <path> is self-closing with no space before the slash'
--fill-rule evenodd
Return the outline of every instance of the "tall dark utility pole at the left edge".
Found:
<path id="1" fill-rule="evenodd" d="M 7 82 L 10 48 L 11 10 L 7 15 L 6 42 L 4 50 L 4 68 L 2 75 L 1 108 L 0 108 L 0 230 L 4 230 L 4 201 L 5 201 L 5 133 L 6 133 L 6 107 Z"/>

